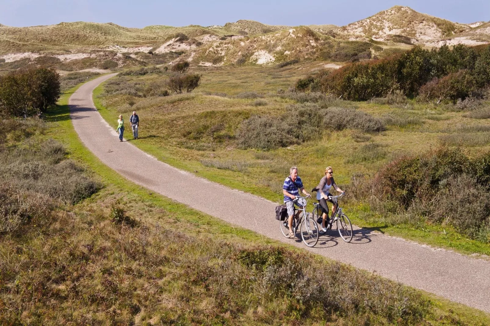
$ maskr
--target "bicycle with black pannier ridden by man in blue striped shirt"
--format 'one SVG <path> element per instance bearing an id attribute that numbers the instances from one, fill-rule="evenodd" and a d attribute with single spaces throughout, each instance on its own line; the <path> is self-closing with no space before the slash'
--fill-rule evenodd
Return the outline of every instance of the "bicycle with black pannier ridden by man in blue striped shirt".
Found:
<path id="1" fill-rule="evenodd" d="M 293 200 L 293 207 L 294 204 L 297 203 L 299 204 L 298 206 L 302 208 L 298 209 L 301 210 L 301 212 L 299 213 L 298 218 L 296 218 L 296 207 L 294 207 L 292 230 L 293 233 L 296 234 L 297 227 L 300 226 L 299 232 L 301 233 L 301 239 L 303 239 L 304 244 L 308 247 L 315 247 L 318 242 L 319 228 L 317 222 L 315 222 L 311 215 L 306 212 L 308 199 L 305 200 L 305 198 L 307 197 L 296 196 L 296 198 Z M 282 234 L 289 238 L 288 218 L 279 222 Z"/>

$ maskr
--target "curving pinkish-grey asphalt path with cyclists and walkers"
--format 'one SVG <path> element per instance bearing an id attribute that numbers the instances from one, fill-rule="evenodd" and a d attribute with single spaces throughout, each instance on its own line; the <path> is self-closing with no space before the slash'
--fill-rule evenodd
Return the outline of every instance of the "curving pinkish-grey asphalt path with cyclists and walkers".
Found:
<path id="1" fill-rule="evenodd" d="M 125 178 L 231 224 L 490 313 L 490 261 L 363 229 L 355 230 L 351 243 L 331 232 L 321 236 L 315 248 L 307 248 L 282 236 L 275 203 L 178 170 L 129 142 L 120 142 L 92 101 L 93 90 L 114 75 L 82 85 L 69 105 L 73 126 L 85 146 Z"/>

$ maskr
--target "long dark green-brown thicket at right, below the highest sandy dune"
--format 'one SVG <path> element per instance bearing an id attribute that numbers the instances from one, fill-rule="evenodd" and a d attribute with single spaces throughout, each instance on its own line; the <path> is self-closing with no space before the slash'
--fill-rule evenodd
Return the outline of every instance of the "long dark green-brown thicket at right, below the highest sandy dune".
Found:
<path id="1" fill-rule="evenodd" d="M 300 79 L 296 89 L 333 93 L 349 100 L 366 100 L 394 91 L 409 97 L 423 94 L 429 99 L 456 100 L 489 84 L 490 46 L 457 45 L 430 51 L 414 47 L 390 58 L 348 64 L 332 73 Z"/>

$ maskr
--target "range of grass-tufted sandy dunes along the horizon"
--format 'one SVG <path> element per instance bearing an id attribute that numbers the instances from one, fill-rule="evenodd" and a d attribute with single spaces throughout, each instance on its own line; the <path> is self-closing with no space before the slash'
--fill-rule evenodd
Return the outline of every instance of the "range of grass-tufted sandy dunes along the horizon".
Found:
<path id="1" fill-rule="evenodd" d="M 204 66 L 270 65 L 303 59 L 343 62 L 383 57 L 417 44 L 437 47 L 486 43 L 490 43 L 490 22 L 453 23 L 404 6 L 342 27 L 292 27 L 250 20 L 208 27 L 128 28 L 86 22 L 31 27 L 0 24 L 0 70 L 26 64 L 61 70 L 145 66 L 172 64 L 182 58 Z"/>

